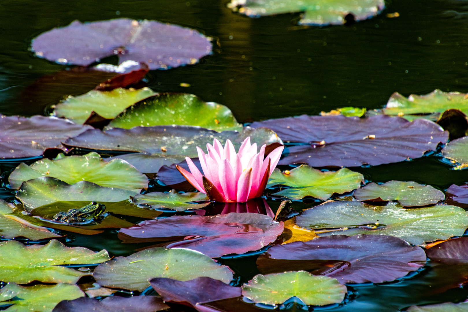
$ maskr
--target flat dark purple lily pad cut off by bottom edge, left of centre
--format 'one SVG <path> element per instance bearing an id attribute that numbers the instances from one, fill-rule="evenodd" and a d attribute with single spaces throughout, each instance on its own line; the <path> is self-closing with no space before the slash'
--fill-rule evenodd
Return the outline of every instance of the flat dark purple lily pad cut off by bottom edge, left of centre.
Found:
<path id="1" fill-rule="evenodd" d="M 128 298 L 111 296 L 101 301 L 80 297 L 74 300 L 60 301 L 52 312 L 156 312 L 168 308 L 169 306 L 162 302 L 161 297 L 158 296 L 135 296 Z"/>

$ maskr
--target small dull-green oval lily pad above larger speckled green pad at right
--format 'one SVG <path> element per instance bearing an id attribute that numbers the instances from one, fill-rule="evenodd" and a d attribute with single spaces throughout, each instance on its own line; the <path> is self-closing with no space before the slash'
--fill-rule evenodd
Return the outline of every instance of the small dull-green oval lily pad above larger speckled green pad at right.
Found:
<path id="1" fill-rule="evenodd" d="M 354 191 L 354 197 L 359 201 L 396 200 L 405 207 L 426 206 L 445 198 L 442 191 L 413 181 L 388 181 L 381 185 L 372 182 Z"/>

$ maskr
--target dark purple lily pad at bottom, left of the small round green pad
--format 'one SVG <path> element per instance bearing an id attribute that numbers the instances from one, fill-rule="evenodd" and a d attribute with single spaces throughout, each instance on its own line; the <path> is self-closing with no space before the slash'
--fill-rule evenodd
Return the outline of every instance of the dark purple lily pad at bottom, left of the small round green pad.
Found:
<path id="1" fill-rule="evenodd" d="M 149 283 L 161 295 L 164 301 L 189 305 L 200 312 L 217 311 L 207 308 L 202 304 L 240 297 L 242 292 L 240 287 L 229 286 L 211 277 L 197 277 L 186 282 L 156 277 L 151 279 Z"/>

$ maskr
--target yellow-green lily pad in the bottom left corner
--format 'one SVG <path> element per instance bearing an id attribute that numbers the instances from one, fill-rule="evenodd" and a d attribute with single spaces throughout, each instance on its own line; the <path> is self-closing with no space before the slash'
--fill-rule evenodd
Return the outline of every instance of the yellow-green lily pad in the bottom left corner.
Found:
<path id="1" fill-rule="evenodd" d="M 51 312 L 62 300 L 84 296 L 80 287 L 66 283 L 27 287 L 8 283 L 0 290 L 1 304 L 13 304 L 4 310 L 7 312 Z M 7 301 L 9 299 L 13 300 Z"/>

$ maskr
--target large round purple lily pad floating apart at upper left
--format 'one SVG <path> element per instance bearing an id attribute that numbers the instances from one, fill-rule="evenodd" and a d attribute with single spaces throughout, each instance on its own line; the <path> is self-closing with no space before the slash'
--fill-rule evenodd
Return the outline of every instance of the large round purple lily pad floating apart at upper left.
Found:
<path id="1" fill-rule="evenodd" d="M 197 30 L 156 21 L 129 18 L 81 23 L 54 28 L 32 40 L 40 58 L 59 64 L 90 65 L 118 55 L 120 63 L 134 60 L 150 70 L 195 64 L 211 54 L 212 39 Z"/>

